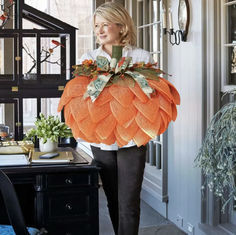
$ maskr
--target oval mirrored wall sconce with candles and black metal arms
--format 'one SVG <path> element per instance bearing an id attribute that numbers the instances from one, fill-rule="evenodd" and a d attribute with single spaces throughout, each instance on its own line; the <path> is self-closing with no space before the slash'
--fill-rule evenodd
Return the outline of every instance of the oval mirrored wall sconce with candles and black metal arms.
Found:
<path id="1" fill-rule="evenodd" d="M 179 45 L 181 41 L 186 42 L 189 28 L 189 18 L 190 18 L 188 0 L 179 0 L 179 7 L 178 7 L 179 30 L 174 31 L 171 9 L 169 9 L 168 11 L 169 28 L 170 28 L 169 31 L 167 30 L 167 24 L 166 24 L 165 6 L 163 6 L 162 16 L 163 16 L 162 18 L 163 32 L 164 34 L 169 35 L 170 44 L 173 46 L 173 45 Z"/>

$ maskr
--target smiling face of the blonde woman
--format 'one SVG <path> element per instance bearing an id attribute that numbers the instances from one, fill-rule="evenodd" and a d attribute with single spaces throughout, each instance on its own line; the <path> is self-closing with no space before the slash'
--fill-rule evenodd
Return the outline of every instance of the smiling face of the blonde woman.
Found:
<path id="1" fill-rule="evenodd" d="M 122 26 L 110 23 L 101 16 L 95 16 L 94 32 L 101 44 L 104 47 L 118 45 L 120 43 L 120 31 Z"/>

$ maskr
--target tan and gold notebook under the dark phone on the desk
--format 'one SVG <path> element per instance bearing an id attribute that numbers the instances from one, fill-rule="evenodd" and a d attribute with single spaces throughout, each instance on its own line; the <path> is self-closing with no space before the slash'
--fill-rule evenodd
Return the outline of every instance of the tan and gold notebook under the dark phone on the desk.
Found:
<path id="1" fill-rule="evenodd" d="M 58 152 L 59 156 L 54 157 L 52 159 L 42 159 L 39 158 L 40 155 L 44 154 L 44 152 L 33 152 L 32 154 L 32 163 L 67 163 L 73 161 L 72 152 Z"/>

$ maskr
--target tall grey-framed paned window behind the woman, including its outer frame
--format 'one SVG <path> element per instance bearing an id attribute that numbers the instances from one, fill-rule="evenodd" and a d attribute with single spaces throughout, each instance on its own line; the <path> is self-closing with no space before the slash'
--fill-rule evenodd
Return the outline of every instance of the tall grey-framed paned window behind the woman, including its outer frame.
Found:
<path id="1" fill-rule="evenodd" d="M 136 4 L 137 9 L 137 46 L 150 51 L 152 55 L 156 54 L 156 62 L 159 62 L 158 67 L 160 67 L 160 69 L 164 71 L 167 71 L 167 39 L 166 37 L 164 37 L 161 21 L 162 4 L 167 5 L 167 1 L 157 0 L 157 13 L 159 12 L 159 16 L 155 21 L 153 19 L 152 3 L 152 0 L 138 0 L 135 2 L 133 1 L 133 4 Z M 132 10 L 133 8 L 134 5 L 132 7 Z M 147 17 L 145 17 L 145 15 Z M 153 25 L 158 25 L 160 27 L 158 30 L 157 26 L 157 37 L 160 38 L 160 45 L 157 44 L 156 51 L 153 51 Z M 142 30 L 143 28 L 144 30 Z M 152 156 L 153 151 L 156 151 L 155 146 L 157 145 L 160 145 L 161 156 L 158 156 L 156 154 Z M 146 162 L 145 166 L 142 198 L 160 214 L 162 214 L 164 217 L 167 217 L 166 203 L 168 202 L 168 131 L 162 134 L 160 136 L 160 139 L 157 138 L 150 141 L 148 146 L 147 159 L 149 159 L 149 163 Z M 152 164 L 154 158 L 156 158 L 156 166 L 153 166 Z M 161 160 L 160 164 L 158 163 L 158 159 Z M 155 182 L 153 181 L 153 176 L 155 176 Z M 150 187 L 151 181 L 152 185 L 155 185 L 155 187 Z M 160 183 L 157 184 L 156 182 Z M 154 201 L 155 203 L 153 203 Z"/>

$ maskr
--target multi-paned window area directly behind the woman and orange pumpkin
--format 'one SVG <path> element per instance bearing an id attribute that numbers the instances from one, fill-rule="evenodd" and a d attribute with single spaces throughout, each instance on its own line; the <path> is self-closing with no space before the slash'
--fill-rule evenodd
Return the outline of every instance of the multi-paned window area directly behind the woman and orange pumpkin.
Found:
<path id="1" fill-rule="evenodd" d="M 135 4 L 137 4 L 137 46 L 150 51 L 153 59 L 158 63 L 158 67 L 166 70 L 164 66 L 165 41 L 161 22 L 163 1 L 139 0 L 134 2 L 133 6 Z M 149 142 L 143 181 L 144 194 L 148 194 L 146 197 L 144 195 L 144 200 L 153 208 L 158 208 L 158 211 L 164 216 L 166 216 L 165 203 L 168 200 L 166 146 L 167 134 L 158 136 Z M 162 203 L 165 205 L 163 206 Z"/>

